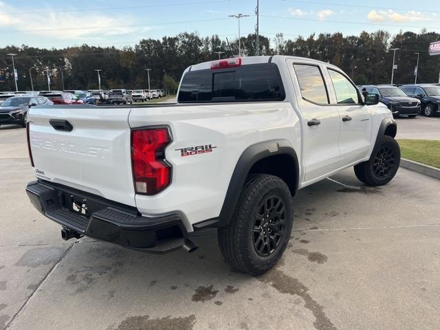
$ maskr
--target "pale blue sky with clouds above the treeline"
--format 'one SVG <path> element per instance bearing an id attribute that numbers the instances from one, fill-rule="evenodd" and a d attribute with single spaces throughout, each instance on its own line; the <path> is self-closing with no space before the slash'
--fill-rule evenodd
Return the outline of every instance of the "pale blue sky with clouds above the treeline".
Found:
<path id="1" fill-rule="evenodd" d="M 198 32 L 235 39 L 254 32 L 256 0 L 0 0 L 0 47 L 134 45 L 140 39 Z M 440 0 L 260 0 L 260 33 L 271 39 L 311 33 L 359 34 L 380 28 L 440 32 Z"/>

